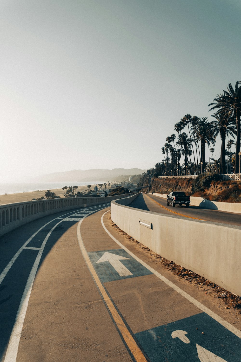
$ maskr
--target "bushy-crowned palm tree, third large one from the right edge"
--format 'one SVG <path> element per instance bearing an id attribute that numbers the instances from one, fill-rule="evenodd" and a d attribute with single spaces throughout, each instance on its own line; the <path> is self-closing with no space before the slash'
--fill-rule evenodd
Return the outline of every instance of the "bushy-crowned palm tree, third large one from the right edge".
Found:
<path id="1" fill-rule="evenodd" d="M 206 144 L 210 147 L 210 143 L 214 145 L 215 137 L 214 137 L 214 121 L 208 121 L 207 117 L 198 118 L 198 121 L 194 123 L 191 127 L 191 130 L 195 132 L 197 139 L 201 142 L 201 159 L 202 162 L 202 172 L 205 171 L 205 146 Z"/>

